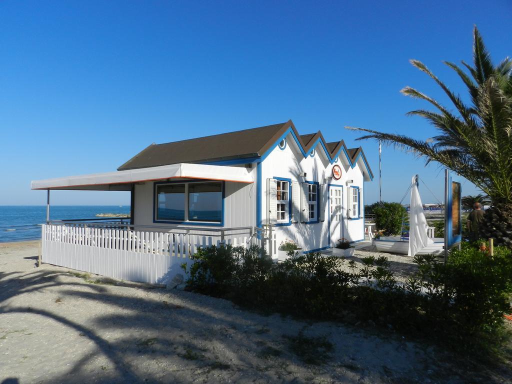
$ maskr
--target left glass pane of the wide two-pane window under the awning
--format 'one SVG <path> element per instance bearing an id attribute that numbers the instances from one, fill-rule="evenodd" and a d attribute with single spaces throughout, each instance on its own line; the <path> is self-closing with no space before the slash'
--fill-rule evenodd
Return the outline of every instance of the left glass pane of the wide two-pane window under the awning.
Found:
<path id="1" fill-rule="evenodd" d="M 157 185 L 157 220 L 185 220 L 185 184 Z"/>

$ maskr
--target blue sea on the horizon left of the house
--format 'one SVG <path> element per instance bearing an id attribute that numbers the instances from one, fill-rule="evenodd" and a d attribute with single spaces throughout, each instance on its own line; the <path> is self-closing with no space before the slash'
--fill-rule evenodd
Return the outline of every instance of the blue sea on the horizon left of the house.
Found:
<path id="1" fill-rule="evenodd" d="M 98 214 L 129 214 L 130 205 L 52 205 L 50 220 L 97 219 Z M 0 243 L 39 240 L 46 205 L 0 205 Z"/>

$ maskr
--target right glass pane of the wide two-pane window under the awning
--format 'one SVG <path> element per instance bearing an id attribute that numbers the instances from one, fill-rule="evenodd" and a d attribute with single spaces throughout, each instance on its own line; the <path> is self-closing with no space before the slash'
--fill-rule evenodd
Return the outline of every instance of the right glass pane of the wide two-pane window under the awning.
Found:
<path id="1" fill-rule="evenodd" d="M 188 184 L 188 220 L 222 221 L 222 183 Z"/>

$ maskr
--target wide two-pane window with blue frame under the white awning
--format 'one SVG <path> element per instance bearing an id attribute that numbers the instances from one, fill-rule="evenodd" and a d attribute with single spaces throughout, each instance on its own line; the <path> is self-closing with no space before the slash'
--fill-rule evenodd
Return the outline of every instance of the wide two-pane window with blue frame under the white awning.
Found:
<path id="1" fill-rule="evenodd" d="M 156 182 L 153 222 L 223 226 L 224 189 L 224 181 Z"/>

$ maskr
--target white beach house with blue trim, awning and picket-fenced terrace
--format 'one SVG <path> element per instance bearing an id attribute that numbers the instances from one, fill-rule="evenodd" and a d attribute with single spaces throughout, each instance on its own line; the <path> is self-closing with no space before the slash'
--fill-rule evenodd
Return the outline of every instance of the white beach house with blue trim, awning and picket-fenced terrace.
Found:
<path id="1" fill-rule="evenodd" d="M 299 135 L 291 120 L 151 144 L 116 172 L 32 182 L 32 189 L 131 191 L 129 221 L 49 221 L 42 261 L 126 280 L 164 282 L 198 246 L 302 252 L 364 239 L 362 148 Z"/>

